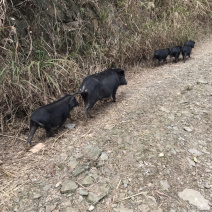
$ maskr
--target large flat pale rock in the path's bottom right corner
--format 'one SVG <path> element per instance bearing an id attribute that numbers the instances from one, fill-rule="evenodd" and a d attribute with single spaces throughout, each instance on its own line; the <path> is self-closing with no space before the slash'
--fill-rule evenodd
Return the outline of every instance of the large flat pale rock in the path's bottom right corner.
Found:
<path id="1" fill-rule="evenodd" d="M 189 201 L 190 204 L 195 205 L 199 210 L 210 210 L 209 201 L 199 191 L 186 188 L 179 192 L 178 196 L 183 200 Z"/>

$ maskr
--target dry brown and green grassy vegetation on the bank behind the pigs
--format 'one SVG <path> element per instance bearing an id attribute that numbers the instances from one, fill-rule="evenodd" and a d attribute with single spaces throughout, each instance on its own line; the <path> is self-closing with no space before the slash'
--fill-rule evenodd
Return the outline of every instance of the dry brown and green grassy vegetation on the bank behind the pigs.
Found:
<path id="1" fill-rule="evenodd" d="M 209 0 L 42 2 L 0 0 L 2 131 L 87 74 L 151 60 L 211 27 Z"/>

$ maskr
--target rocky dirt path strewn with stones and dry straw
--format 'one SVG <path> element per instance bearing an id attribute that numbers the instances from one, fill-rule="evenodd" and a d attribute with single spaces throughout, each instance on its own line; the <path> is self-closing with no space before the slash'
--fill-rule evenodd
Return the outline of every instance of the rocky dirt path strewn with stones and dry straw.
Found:
<path id="1" fill-rule="evenodd" d="M 116 103 L 36 154 L 1 137 L 0 211 L 212 211 L 211 40 L 186 63 L 127 78 Z"/>

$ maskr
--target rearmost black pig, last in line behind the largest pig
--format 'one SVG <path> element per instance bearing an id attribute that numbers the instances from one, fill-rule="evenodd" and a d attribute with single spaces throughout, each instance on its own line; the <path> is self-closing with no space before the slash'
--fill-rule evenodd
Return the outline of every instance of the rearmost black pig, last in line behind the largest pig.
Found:
<path id="1" fill-rule="evenodd" d="M 36 109 L 30 118 L 30 132 L 27 143 L 31 145 L 32 137 L 38 127 L 44 128 L 49 136 L 52 136 L 52 127 L 61 129 L 66 119 L 70 117 L 70 111 L 78 106 L 74 95 L 65 95 L 59 100 Z"/>

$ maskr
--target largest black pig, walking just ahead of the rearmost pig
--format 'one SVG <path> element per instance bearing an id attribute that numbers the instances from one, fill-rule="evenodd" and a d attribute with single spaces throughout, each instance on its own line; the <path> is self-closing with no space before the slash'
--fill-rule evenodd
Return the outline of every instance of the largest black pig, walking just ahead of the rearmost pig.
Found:
<path id="1" fill-rule="evenodd" d="M 98 100 L 112 96 L 115 102 L 119 85 L 126 84 L 127 81 L 122 69 L 107 69 L 86 77 L 81 83 L 78 92 L 84 100 L 86 121 L 88 120 L 88 115 L 90 115 L 90 109 Z"/>

